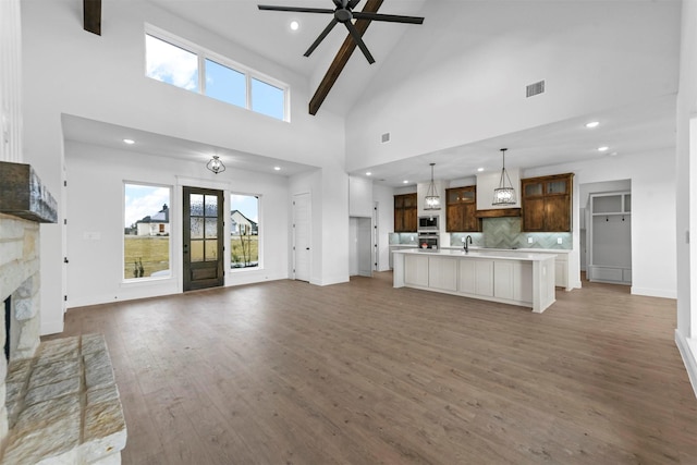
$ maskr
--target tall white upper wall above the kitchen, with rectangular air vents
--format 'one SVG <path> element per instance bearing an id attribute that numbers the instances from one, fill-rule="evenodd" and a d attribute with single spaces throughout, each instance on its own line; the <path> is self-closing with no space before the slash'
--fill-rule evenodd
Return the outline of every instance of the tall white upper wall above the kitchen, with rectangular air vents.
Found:
<path id="1" fill-rule="evenodd" d="M 677 88 L 680 2 L 432 1 L 420 13 L 445 26 L 409 29 L 352 109 L 350 171 Z M 546 93 L 525 98 L 540 79 Z"/>

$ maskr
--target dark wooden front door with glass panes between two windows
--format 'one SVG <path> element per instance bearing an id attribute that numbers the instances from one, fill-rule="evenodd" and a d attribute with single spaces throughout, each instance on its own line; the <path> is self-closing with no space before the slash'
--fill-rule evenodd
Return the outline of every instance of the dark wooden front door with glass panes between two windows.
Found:
<path id="1" fill-rule="evenodd" d="M 184 291 L 220 286 L 223 272 L 222 191 L 184 187 Z"/>

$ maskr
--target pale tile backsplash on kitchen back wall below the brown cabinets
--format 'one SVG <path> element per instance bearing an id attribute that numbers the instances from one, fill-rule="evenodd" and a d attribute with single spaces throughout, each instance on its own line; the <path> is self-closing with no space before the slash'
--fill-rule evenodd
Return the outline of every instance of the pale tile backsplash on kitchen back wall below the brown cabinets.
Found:
<path id="1" fill-rule="evenodd" d="M 557 248 L 572 249 L 572 233 L 521 232 L 521 218 L 485 218 L 480 233 L 451 233 L 450 244 L 460 246 L 463 238 L 472 236 L 475 247 L 490 248 Z M 561 238 L 561 244 L 559 240 Z M 531 240 L 531 242 L 530 242 Z"/>

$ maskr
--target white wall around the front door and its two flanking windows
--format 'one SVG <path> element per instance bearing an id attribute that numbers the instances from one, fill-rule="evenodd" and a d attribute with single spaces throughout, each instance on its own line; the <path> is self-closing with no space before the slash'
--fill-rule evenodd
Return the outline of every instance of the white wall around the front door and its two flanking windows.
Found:
<path id="1" fill-rule="evenodd" d="M 70 186 L 66 195 L 69 307 L 182 292 L 182 183 L 224 189 L 225 208 L 230 206 L 230 192 L 260 196 L 262 266 L 231 271 L 228 254 L 225 285 L 288 278 L 288 178 L 234 171 L 221 181 L 220 176 L 196 161 L 164 159 L 72 142 L 65 144 L 65 164 Z M 172 188 L 170 279 L 123 282 L 124 182 Z M 225 222 L 225 236 L 229 235 L 230 223 Z"/>

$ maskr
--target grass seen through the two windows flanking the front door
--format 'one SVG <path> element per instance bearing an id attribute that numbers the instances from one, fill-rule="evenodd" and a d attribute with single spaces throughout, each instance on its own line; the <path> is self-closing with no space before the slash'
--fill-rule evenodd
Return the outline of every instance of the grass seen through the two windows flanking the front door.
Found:
<path id="1" fill-rule="evenodd" d="M 232 264 L 259 261 L 259 236 L 245 236 L 245 247 L 248 244 L 247 254 L 243 253 L 240 236 L 230 240 L 230 258 Z M 170 269 L 170 238 L 169 236 L 124 236 L 124 266 L 123 277 L 137 278 L 134 270 L 143 262 L 143 277 L 149 277 L 156 271 Z M 246 260 L 245 260 L 246 255 Z M 137 265 L 136 265 L 137 264 Z"/>

